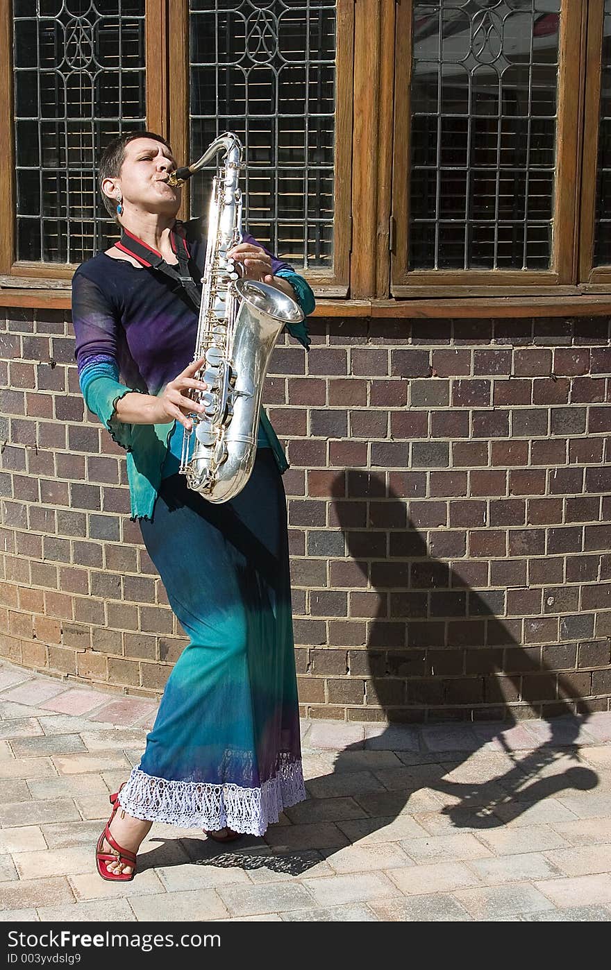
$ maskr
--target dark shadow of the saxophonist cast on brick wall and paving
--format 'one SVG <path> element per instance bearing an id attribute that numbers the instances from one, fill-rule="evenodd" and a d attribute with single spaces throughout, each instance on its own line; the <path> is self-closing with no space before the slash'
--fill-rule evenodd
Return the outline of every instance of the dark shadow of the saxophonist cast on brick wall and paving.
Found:
<path id="1" fill-rule="evenodd" d="M 470 589 L 429 553 L 423 533 L 406 516 L 406 501 L 387 492 L 383 474 L 349 469 L 337 475 L 332 495 L 348 552 L 380 603 L 366 645 L 365 695 L 382 710 L 388 726 L 381 726 L 368 747 L 396 752 L 400 744 L 397 755 L 404 764 L 393 777 L 381 760 L 379 778 L 399 791 L 384 792 L 380 785 L 377 792 L 355 792 L 357 803 L 389 824 L 391 817 L 410 811 L 410 800 L 424 811 L 424 789 L 433 798 L 435 792 L 441 796 L 450 827 L 486 828 L 518 817 L 556 792 L 594 788 L 597 776 L 579 760 L 577 749 L 588 702 L 569 677 L 537 663 L 532 650 L 516 641 L 511 624 L 494 614 L 494 598 Z M 354 503 L 363 501 L 367 526 L 355 530 Z M 389 536 L 390 555 L 376 561 L 373 550 L 381 534 Z M 504 602 L 502 597 L 497 601 Z M 542 651 L 537 648 L 535 654 Z M 545 721 L 543 726 L 539 722 L 541 743 L 530 751 L 520 751 L 516 737 L 525 716 Z M 439 726 L 449 720 L 471 723 L 459 731 Z M 422 732 L 405 727 L 423 721 L 431 727 Z M 423 736 L 426 751 L 421 750 Z M 452 751 L 453 743 L 462 750 Z M 354 763 L 357 748 L 338 756 L 336 771 Z M 478 751 L 483 754 L 482 749 L 490 752 L 489 759 L 474 760 L 472 767 L 464 763 Z M 486 773 L 489 778 L 481 777 Z M 316 781 L 309 785 L 321 791 Z M 434 810 L 432 803 L 429 810 Z"/>

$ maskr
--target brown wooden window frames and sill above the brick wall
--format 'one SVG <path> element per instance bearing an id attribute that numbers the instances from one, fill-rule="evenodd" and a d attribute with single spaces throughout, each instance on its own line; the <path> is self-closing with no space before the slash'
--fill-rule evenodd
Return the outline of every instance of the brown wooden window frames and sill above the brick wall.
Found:
<path id="1" fill-rule="evenodd" d="M 399 258 L 407 252 L 413 2 L 337 0 L 334 272 L 305 274 L 319 298 L 317 315 L 442 318 L 611 311 L 611 267 L 592 270 L 591 265 L 603 0 L 583 5 L 564 0 L 558 171 L 561 184 L 572 183 L 574 190 L 556 192 L 554 269 L 424 275 L 407 274 Z M 12 4 L 4 0 L 0 49 L 9 56 L 0 63 L 0 96 L 10 110 L 0 116 L 0 136 L 11 150 L 0 155 L 5 188 L 0 198 L 5 227 L 0 305 L 69 307 L 74 266 L 13 262 L 12 16 Z M 147 125 L 187 160 L 187 0 L 146 0 L 146 23 Z M 566 56 L 569 47 L 571 57 Z M 585 117 L 583 131 L 580 117 Z M 187 199 L 180 214 L 187 214 Z"/>

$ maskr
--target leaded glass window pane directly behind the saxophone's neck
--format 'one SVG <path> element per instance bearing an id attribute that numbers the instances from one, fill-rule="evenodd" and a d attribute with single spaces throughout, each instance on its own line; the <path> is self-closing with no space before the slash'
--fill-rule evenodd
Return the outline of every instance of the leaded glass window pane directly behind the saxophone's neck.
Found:
<path id="1" fill-rule="evenodd" d="M 190 157 L 234 131 L 245 222 L 295 267 L 333 258 L 335 0 L 190 0 Z M 191 214 L 210 179 L 191 180 Z"/>

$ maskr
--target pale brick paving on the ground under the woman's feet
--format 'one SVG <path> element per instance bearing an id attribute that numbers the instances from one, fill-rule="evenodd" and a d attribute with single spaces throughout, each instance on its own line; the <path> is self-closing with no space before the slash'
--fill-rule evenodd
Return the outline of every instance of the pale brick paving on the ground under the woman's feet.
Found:
<path id="1" fill-rule="evenodd" d="M 610 921 L 611 713 L 302 722 L 309 800 L 225 851 L 153 824 L 99 878 L 156 705 L 0 663 L 1 921 Z"/>

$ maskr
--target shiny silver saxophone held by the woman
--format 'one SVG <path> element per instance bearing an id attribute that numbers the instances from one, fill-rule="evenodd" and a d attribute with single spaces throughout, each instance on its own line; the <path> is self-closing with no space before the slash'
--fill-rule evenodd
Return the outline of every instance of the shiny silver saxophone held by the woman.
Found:
<path id="1" fill-rule="evenodd" d="M 177 169 L 168 182 L 181 185 L 223 151 L 213 179 L 203 289 L 193 361 L 206 359 L 196 374 L 206 391 L 189 392 L 204 405 L 183 428 L 180 471 L 187 485 L 212 502 L 229 501 L 248 482 L 256 457 L 256 437 L 263 382 L 276 340 L 285 324 L 299 323 L 303 311 L 268 283 L 239 278 L 227 252 L 242 242 L 240 171 L 243 147 L 225 132 L 191 165 Z"/>

